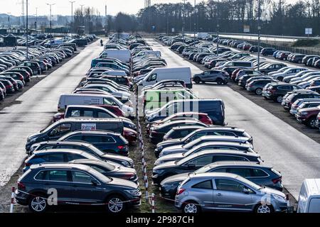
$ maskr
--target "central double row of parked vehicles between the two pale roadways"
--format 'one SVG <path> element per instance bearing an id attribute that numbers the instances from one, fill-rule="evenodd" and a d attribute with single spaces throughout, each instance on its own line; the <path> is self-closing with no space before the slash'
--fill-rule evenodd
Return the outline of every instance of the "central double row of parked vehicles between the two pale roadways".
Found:
<path id="1" fill-rule="evenodd" d="M 172 48 L 186 38 L 161 41 Z M 252 62 L 242 62 L 252 70 Z M 58 204 L 102 205 L 112 213 L 139 206 L 131 144 L 137 141 L 134 121 L 143 119 L 158 157 L 152 180 L 172 206 L 184 213 L 287 211 L 282 175 L 264 164 L 252 136 L 226 126 L 223 100 L 193 93 L 192 81 L 226 84 L 230 77 L 225 67 L 215 74 L 205 80 L 204 74 L 192 76 L 190 67 L 166 67 L 161 52 L 141 37 L 110 35 L 79 87 L 60 95 L 53 123 L 28 138 L 16 200 L 44 212 L 47 191 L 55 188 Z"/>

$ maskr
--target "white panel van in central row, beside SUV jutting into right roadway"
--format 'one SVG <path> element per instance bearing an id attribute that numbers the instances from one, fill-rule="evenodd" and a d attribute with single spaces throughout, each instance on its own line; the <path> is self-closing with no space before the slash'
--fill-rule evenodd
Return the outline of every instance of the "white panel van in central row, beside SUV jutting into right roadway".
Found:
<path id="1" fill-rule="evenodd" d="M 176 67 L 176 68 L 155 68 L 146 77 L 138 83 L 138 85 L 147 86 L 156 84 L 166 79 L 179 79 L 186 83 L 186 87 L 192 88 L 191 82 L 191 68 L 190 67 Z"/>

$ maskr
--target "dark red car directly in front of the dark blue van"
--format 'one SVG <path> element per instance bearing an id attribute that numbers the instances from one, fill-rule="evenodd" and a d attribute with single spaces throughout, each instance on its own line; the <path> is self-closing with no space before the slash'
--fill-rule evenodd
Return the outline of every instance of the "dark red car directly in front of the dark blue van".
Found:
<path id="1" fill-rule="evenodd" d="M 150 128 L 153 126 L 157 126 L 157 125 L 166 123 L 168 121 L 178 121 L 178 120 L 182 120 L 185 118 L 196 118 L 199 121 L 201 121 L 202 123 L 205 123 L 206 125 L 213 125 L 213 121 L 211 120 L 211 118 L 209 118 L 208 114 L 195 113 L 195 112 L 181 112 L 181 113 L 173 114 L 167 118 L 164 118 L 163 120 L 154 121 L 152 123 L 149 123 L 146 126 L 146 133 L 149 134 Z"/>

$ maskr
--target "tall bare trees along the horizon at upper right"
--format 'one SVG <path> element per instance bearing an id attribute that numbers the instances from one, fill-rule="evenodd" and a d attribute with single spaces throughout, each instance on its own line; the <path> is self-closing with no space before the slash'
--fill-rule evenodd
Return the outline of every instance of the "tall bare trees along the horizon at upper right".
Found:
<path id="1" fill-rule="evenodd" d="M 304 28 L 313 28 L 320 34 L 320 1 L 304 0 L 289 4 L 284 0 L 208 0 L 196 5 L 155 4 L 137 14 L 139 28 L 149 32 L 219 31 L 242 33 L 250 26 L 257 32 L 260 14 L 264 34 L 304 35 Z M 260 9 L 260 13 L 258 12 Z"/>

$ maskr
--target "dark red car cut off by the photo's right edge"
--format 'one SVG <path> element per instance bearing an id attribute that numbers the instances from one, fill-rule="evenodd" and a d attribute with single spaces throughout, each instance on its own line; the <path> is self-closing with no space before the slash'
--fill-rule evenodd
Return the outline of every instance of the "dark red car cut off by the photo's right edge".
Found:
<path id="1" fill-rule="evenodd" d="M 304 123 L 310 128 L 318 128 L 316 124 L 317 116 L 320 113 L 320 106 L 299 109 L 298 113 L 295 115 L 297 121 Z"/>

